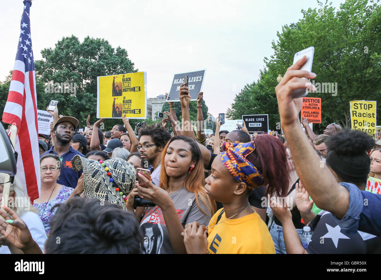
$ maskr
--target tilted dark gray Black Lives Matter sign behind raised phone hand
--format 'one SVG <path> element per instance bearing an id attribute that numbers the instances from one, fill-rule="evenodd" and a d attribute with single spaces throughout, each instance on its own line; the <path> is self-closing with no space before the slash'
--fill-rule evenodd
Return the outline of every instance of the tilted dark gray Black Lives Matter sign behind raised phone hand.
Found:
<path id="1" fill-rule="evenodd" d="M 179 91 L 181 84 L 184 83 L 185 76 L 188 76 L 188 87 L 190 91 L 189 94 L 191 94 L 191 101 L 197 100 L 197 94 L 199 94 L 202 90 L 202 85 L 204 83 L 205 71 L 206 69 L 194 72 L 174 74 L 171 90 L 168 94 L 167 101 L 180 101 Z"/>

